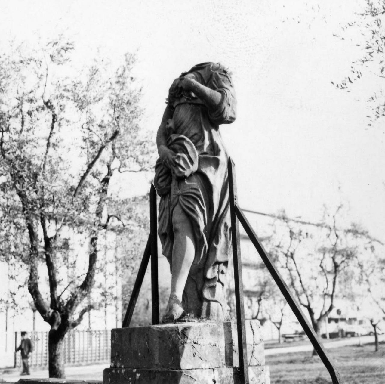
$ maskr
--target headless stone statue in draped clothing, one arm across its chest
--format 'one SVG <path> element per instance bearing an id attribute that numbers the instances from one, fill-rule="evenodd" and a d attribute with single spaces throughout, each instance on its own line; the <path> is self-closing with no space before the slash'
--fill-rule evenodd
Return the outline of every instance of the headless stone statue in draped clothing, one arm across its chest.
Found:
<path id="1" fill-rule="evenodd" d="M 231 73 L 219 63 L 195 65 L 174 80 L 166 103 L 154 178 L 172 276 L 163 322 L 224 320 L 231 228 L 228 155 L 218 127 L 236 117 Z"/>

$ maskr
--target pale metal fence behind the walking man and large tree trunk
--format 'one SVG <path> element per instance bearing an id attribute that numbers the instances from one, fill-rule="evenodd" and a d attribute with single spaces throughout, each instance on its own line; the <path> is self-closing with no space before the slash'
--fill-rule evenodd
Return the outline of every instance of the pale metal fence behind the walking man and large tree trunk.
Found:
<path id="1" fill-rule="evenodd" d="M 66 365 L 82 365 L 110 360 L 110 330 L 70 330 L 64 337 L 63 361 Z M 48 332 L 29 332 L 33 342 L 31 367 L 48 366 Z M 20 332 L 15 332 L 15 345 L 20 345 Z M 21 367 L 20 353 L 15 355 L 15 368 Z"/>

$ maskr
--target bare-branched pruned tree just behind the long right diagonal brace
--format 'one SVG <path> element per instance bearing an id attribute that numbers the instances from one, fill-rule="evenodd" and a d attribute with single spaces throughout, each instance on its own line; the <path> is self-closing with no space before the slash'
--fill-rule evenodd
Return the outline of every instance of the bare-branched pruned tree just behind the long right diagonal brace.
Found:
<path id="1" fill-rule="evenodd" d="M 349 239 L 357 233 L 351 228 L 343 230 L 336 226 L 341 208 L 339 206 L 333 214 L 326 213 L 316 235 L 303 225 L 290 221 L 285 212 L 281 213 L 283 226 L 277 233 L 284 229 L 286 233 L 269 249 L 276 255 L 288 285 L 305 308 L 318 335 L 322 323 L 334 308 L 336 296 L 343 294 L 339 286 L 341 272 L 357 257 L 357 245 Z"/>

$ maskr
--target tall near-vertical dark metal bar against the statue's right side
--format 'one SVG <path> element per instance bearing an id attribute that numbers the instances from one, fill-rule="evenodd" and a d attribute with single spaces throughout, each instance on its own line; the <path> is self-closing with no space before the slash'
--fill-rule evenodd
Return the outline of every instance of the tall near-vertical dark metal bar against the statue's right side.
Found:
<path id="1" fill-rule="evenodd" d="M 233 264 L 234 264 L 234 286 L 235 286 L 235 307 L 237 315 L 237 334 L 238 334 L 238 355 L 239 373 L 241 383 L 249 384 L 249 368 L 247 361 L 246 327 L 244 322 L 244 301 L 243 301 L 243 281 L 242 281 L 242 260 L 241 247 L 239 243 L 239 224 L 236 218 L 235 207 L 237 204 L 237 186 L 233 161 L 228 162 L 229 177 L 229 197 L 230 197 L 230 216 L 231 216 L 231 236 L 233 245 Z"/>

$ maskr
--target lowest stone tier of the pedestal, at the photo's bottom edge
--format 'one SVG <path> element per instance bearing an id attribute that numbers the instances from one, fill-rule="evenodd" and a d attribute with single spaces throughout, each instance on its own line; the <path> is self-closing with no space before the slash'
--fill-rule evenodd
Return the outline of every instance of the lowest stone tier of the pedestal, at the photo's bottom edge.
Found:
<path id="1" fill-rule="evenodd" d="M 185 370 L 109 368 L 104 384 L 243 384 L 234 367 Z M 249 367 L 250 384 L 270 384 L 268 367 Z"/>

